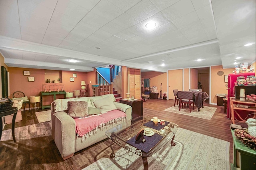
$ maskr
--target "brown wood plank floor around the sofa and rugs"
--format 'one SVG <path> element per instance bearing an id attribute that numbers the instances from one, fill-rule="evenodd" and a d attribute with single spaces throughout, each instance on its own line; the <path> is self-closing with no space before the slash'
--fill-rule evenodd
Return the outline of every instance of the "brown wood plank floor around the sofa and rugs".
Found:
<path id="1" fill-rule="evenodd" d="M 150 99 L 143 103 L 144 115 L 171 121 L 179 127 L 190 131 L 202 133 L 211 137 L 230 142 L 230 163 L 233 162 L 233 140 L 230 132 L 230 120 L 224 113 L 224 107 L 205 104 L 205 106 L 217 107 L 211 120 L 170 113 L 164 111 L 174 105 L 174 100 Z M 44 109 L 46 110 L 46 109 Z M 41 110 L 38 110 L 41 111 Z M 8 139 L 10 134 L 7 129 L 11 125 L 5 125 L 0 142 L 0 169 L 82 169 L 103 156 L 110 155 L 110 139 L 106 139 L 91 147 L 76 152 L 72 158 L 63 161 L 60 153 L 51 137 L 50 121 L 38 123 L 34 110 L 22 111 L 22 122 L 15 123 L 15 127 L 33 125 L 28 134 L 23 131 L 15 131 L 14 143 Z M 242 124 L 244 126 L 244 124 Z M 245 124 L 246 125 L 246 124 Z M 35 131 L 35 128 L 40 130 Z M 118 149 L 116 146 L 115 149 Z"/>

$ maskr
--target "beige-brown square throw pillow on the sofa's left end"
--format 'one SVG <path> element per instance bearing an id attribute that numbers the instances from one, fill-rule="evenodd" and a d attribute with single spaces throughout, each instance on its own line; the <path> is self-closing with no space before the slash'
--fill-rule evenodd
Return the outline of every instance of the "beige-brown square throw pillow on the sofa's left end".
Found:
<path id="1" fill-rule="evenodd" d="M 73 118 L 88 116 L 88 103 L 84 101 L 69 101 L 68 114 Z"/>

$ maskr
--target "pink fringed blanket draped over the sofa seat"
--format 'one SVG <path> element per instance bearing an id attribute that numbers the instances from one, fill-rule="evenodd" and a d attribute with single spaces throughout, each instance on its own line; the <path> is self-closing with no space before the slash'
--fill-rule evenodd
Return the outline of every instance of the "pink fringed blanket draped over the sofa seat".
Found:
<path id="1" fill-rule="evenodd" d="M 90 117 L 81 117 L 74 119 L 76 121 L 76 134 L 80 137 L 87 137 L 95 133 L 98 128 L 111 125 L 118 121 L 126 120 L 126 114 L 120 110 L 108 111 L 108 113 L 90 116 Z"/>

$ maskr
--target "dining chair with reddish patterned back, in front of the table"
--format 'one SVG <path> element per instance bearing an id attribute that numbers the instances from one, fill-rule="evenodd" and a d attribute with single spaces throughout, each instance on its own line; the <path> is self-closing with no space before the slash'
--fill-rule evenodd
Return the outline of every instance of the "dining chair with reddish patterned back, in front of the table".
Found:
<path id="1" fill-rule="evenodd" d="M 191 112 L 191 104 L 193 104 L 193 110 L 195 109 L 192 91 L 178 91 L 178 98 L 180 99 L 179 110 L 181 107 L 183 108 L 183 104 L 185 104 L 184 107 L 186 107 L 186 104 L 188 104 L 190 112 Z"/>

